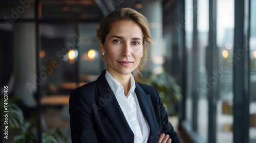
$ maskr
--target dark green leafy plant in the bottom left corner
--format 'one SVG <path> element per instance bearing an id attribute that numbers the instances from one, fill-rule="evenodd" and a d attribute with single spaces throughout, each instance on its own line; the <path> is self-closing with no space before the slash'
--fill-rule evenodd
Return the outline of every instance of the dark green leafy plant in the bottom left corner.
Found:
<path id="1" fill-rule="evenodd" d="M 5 111 L 5 102 L 4 99 L 0 101 L 0 112 L 3 113 Z M 24 119 L 23 111 L 16 105 L 12 100 L 8 100 L 8 132 L 10 129 L 15 131 L 14 133 L 14 142 L 17 143 L 35 143 L 37 142 L 36 138 L 36 127 L 37 123 L 40 123 L 40 117 L 38 113 L 34 113 L 31 115 L 29 120 L 26 122 Z M 2 119 L 1 116 L 1 126 L 5 126 L 3 123 L 5 118 Z M 40 126 L 41 128 L 41 126 Z M 3 129 L 3 127 L 1 127 Z M 42 142 L 51 143 L 51 142 L 68 142 L 66 137 L 61 133 L 59 128 L 56 128 L 53 131 L 45 131 L 42 129 Z M 3 134 L 1 136 L 3 138 Z"/>

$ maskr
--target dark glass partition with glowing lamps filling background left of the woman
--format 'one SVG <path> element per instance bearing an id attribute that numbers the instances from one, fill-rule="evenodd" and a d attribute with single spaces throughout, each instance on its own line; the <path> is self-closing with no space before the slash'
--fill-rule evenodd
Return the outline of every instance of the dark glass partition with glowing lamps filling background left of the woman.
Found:
<path id="1" fill-rule="evenodd" d="M 71 142 L 69 94 L 104 67 L 96 39 L 102 17 L 93 0 L 0 2 L 0 84 L 23 110 L 27 132 L 20 138 L 50 142 L 61 132 L 58 142 Z M 14 142 L 18 133 L 9 129 Z"/>

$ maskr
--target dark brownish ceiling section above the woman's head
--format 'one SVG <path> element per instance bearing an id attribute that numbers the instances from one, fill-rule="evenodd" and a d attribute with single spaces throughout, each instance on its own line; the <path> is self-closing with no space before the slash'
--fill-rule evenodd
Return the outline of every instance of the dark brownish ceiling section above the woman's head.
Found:
<path id="1" fill-rule="evenodd" d="M 151 0 L 152 1 L 152 0 Z M 156 0 L 155 0 L 156 1 Z M 42 0 L 42 18 L 101 19 L 121 7 L 136 9 L 136 4 L 146 0 Z"/>

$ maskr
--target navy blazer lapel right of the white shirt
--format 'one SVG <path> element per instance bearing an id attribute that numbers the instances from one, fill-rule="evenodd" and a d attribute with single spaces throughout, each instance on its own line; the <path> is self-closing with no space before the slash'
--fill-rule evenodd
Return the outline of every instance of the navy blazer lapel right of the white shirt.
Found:
<path id="1" fill-rule="evenodd" d="M 154 136 L 157 131 L 159 131 L 157 126 L 157 121 L 154 116 L 154 109 L 152 105 L 152 101 L 150 98 L 150 94 L 146 94 L 144 90 L 139 86 L 138 83 L 136 84 L 135 92 L 140 104 L 141 111 L 150 126 L 150 136 Z"/>

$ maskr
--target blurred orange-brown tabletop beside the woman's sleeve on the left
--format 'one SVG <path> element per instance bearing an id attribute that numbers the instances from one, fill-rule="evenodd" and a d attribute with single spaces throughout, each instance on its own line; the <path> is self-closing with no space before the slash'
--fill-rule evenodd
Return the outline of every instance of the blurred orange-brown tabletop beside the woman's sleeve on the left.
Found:
<path id="1" fill-rule="evenodd" d="M 50 95 L 42 97 L 41 105 L 69 105 L 69 95 Z"/>

